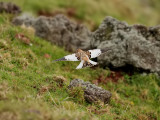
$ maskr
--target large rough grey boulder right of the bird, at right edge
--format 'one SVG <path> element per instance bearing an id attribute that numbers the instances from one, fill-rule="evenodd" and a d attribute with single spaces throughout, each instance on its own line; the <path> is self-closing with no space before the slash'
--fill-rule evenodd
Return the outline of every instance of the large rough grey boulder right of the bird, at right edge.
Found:
<path id="1" fill-rule="evenodd" d="M 112 48 L 111 53 L 98 57 L 104 66 L 132 65 L 160 74 L 160 26 L 129 26 L 112 17 L 106 17 L 93 33 L 92 48 Z"/>

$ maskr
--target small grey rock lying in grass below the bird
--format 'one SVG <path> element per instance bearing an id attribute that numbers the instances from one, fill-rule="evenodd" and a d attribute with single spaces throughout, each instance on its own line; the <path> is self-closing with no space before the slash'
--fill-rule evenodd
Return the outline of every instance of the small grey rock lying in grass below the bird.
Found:
<path id="1" fill-rule="evenodd" d="M 73 87 L 81 86 L 84 90 L 84 98 L 86 101 L 90 103 L 95 103 L 97 101 L 102 101 L 105 104 L 109 103 L 112 94 L 98 87 L 90 82 L 84 82 L 80 79 L 74 79 L 71 81 L 70 85 L 68 86 L 69 89 Z"/>

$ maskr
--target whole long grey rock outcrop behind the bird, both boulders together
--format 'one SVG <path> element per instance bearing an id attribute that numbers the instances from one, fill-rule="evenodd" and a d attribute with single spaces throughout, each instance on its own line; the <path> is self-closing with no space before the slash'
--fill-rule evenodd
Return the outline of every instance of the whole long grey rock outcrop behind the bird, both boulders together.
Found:
<path id="1" fill-rule="evenodd" d="M 13 20 L 16 25 L 25 24 L 36 30 L 36 35 L 66 50 L 77 48 L 111 48 L 98 57 L 98 63 L 115 68 L 131 65 L 160 75 L 160 26 L 128 25 L 112 17 L 106 17 L 99 28 L 91 33 L 63 15 L 55 17 L 24 17 Z"/>

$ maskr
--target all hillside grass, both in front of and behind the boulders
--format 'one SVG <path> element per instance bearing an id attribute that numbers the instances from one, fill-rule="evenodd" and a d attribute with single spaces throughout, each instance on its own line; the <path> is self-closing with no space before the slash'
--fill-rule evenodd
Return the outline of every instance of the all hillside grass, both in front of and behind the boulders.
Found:
<path id="1" fill-rule="evenodd" d="M 159 1 L 138 0 L 0 0 L 20 5 L 23 11 L 38 15 L 74 11 L 72 18 L 95 29 L 110 15 L 128 23 L 159 23 Z M 116 8 L 116 9 L 115 9 Z M 150 19 L 152 16 L 152 19 Z M 123 73 L 117 79 L 111 71 L 96 67 L 76 70 L 78 62 L 52 60 L 69 54 L 63 48 L 34 36 L 34 32 L 10 23 L 13 16 L 0 14 L 0 120 L 159 120 L 160 78 L 154 74 L 132 76 Z M 17 39 L 27 36 L 32 46 Z M 46 54 L 48 57 L 46 57 Z M 102 76 L 102 77 L 101 77 Z M 114 78 L 115 77 L 115 78 Z M 75 78 L 94 83 L 112 93 L 109 104 L 89 104 L 80 88 L 68 90 Z"/>

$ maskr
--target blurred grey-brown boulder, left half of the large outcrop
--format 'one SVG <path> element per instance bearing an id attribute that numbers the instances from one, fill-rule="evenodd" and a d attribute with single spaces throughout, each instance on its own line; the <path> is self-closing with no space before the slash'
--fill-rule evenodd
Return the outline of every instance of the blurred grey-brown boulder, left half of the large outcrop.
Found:
<path id="1" fill-rule="evenodd" d="M 37 36 L 64 46 L 68 51 L 75 51 L 77 48 L 87 49 L 90 45 L 91 32 L 85 26 L 70 21 L 64 15 L 38 18 L 23 15 L 16 17 L 13 23 L 32 26 Z"/>

